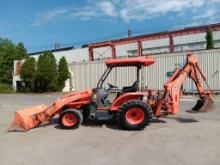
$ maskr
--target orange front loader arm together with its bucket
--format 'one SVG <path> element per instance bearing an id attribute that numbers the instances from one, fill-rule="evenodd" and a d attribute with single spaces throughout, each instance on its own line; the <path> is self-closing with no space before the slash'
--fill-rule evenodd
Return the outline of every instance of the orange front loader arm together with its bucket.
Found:
<path id="1" fill-rule="evenodd" d="M 91 90 L 84 90 L 80 93 L 72 92 L 55 100 L 51 105 L 39 105 L 15 112 L 15 117 L 8 131 L 27 131 L 50 120 L 60 113 L 66 106 L 80 109 L 90 104 Z"/>

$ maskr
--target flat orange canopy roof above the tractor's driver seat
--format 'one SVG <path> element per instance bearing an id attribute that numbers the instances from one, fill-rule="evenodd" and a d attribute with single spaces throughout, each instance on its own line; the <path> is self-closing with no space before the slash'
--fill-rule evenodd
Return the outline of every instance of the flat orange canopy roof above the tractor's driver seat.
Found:
<path id="1" fill-rule="evenodd" d="M 109 59 L 105 61 L 107 67 L 123 67 L 123 66 L 148 66 L 153 64 L 154 58 L 152 57 L 130 57 Z"/>

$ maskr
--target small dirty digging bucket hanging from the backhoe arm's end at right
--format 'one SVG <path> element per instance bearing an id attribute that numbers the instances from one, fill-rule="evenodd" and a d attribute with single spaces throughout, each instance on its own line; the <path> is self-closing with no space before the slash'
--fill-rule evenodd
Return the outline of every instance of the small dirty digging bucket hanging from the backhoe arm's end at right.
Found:
<path id="1" fill-rule="evenodd" d="M 190 113 L 196 112 L 211 112 L 214 110 L 214 102 L 210 97 L 204 97 L 203 99 L 199 99 L 196 105 L 191 109 L 187 110 Z"/>

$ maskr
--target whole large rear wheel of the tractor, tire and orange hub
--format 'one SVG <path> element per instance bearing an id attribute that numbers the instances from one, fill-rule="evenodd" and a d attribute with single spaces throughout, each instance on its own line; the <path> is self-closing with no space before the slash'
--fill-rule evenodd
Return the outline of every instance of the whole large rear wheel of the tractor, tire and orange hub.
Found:
<path id="1" fill-rule="evenodd" d="M 117 112 L 117 120 L 126 130 L 140 130 L 152 120 L 151 108 L 141 100 L 131 100 L 122 104 Z"/>

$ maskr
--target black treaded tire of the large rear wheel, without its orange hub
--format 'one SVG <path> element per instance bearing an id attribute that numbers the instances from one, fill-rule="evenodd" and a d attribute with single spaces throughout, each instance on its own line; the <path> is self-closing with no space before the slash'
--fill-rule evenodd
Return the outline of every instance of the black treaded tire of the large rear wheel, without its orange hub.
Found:
<path id="1" fill-rule="evenodd" d="M 129 122 L 126 114 L 131 108 L 137 108 L 138 111 L 142 111 L 142 119 L 140 123 L 134 124 Z M 126 130 L 140 130 L 146 127 L 152 120 L 152 109 L 141 100 L 131 100 L 122 104 L 117 112 L 117 121 L 119 125 Z"/>

